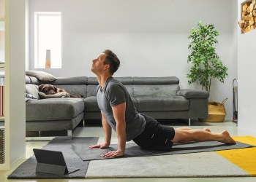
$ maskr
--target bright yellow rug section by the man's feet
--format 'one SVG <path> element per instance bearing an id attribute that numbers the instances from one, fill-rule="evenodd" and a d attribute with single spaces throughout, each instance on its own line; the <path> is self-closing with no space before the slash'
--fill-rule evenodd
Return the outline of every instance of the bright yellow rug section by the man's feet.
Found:
<path id="1" fill-rule="evenodd" d="M 235 141 L 248 143 L 256 146 L 256 138 L 252 136 L 232 137 Z M 225 151 L 216 151 L 217 154 L 225 157 L 233 164 L 245 170 L 249 175 L 256 176 L 256 147 L 246 149 L 233 149 Z"/>

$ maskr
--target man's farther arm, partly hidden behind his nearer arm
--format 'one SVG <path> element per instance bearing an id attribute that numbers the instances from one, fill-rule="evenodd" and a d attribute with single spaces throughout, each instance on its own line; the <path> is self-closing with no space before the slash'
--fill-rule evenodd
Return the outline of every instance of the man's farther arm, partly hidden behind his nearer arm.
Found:
<path id="1" fill-rule="evenodd" d="M 101 112 L 102 114 L 102 112 Z M 94 146 L 89 146 L 90 149 L 93 148 L 99 148 L 99 149 L 105 149 L 108 148 L 110 145 L 110 141 L 111 141 L 111 131 L 112 128 L 110 127 L 110 124 L 108 124 L 107 120 L 105 119 L 105 116 L 102 114 L 102 127 L 104 130 L 104 135 L 105 135 L 105 143 L 98 143 L 97 145 Z"/>

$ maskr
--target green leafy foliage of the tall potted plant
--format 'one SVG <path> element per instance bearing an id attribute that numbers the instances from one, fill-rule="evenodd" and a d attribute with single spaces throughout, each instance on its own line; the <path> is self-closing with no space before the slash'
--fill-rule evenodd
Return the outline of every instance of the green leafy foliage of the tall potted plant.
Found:
<path id="1" fill-rule="evenodd" d="M 213 24 L 203 25 L 200 21 L 196 28 L 190 31 L 189 49 L 192 49 L 191 55 L 187 58 L 187 63 L 192 63 L 190 73 L 187 74 L 189 84 L 199 82 L 202 90 L 210 93 L 211 79 L 219 79 L 224 83 L 227 76 L 227 67 L 222 64 L 222 60 L 215 52 L 214 44 L 218 44 L 217 36 L 219 32 L 215 30 Z"/>

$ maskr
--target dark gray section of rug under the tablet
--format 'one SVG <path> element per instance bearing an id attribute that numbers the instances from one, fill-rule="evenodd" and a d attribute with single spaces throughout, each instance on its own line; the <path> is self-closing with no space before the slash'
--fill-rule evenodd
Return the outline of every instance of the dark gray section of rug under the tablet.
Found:
<path id="1" fill-rule="evenodd" d="M 50 141 L 42 149 L 62 151 L 64 159 L 68 167 L 78 167 L 80 170 L 68 175 L 53 175 L 48 173 L 37 173 L 36 166 L 37 160 L 34 156 L 27 159 L 16 170 L 14 170 L 8 179 L 59 179 L 59 178 L 85 178 L 86 171 L 89 166 L 89 161 L 83 161 L 72 150 L 72 144 L 86 144 L 94 145 L 99 138 L 71 138 L 71 137 L 58 137 Z"/>

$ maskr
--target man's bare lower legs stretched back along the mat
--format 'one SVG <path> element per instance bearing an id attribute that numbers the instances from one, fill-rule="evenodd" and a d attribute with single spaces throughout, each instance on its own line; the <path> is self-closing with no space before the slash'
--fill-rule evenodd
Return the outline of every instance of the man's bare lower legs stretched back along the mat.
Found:
<path id="1" fill-rule="evenodd" d="M 207 130 L 207 128 L 204 130 L 182 130 L 181 128 L 175 129 L 173 142 L 188 143 L 190 141 L 219 141 L 222 143 L 236 143 L 236 141 L 230 137 L 227 130 L 220 133 L 214 133 Z"/>

